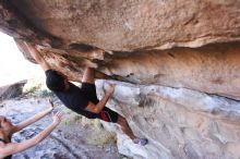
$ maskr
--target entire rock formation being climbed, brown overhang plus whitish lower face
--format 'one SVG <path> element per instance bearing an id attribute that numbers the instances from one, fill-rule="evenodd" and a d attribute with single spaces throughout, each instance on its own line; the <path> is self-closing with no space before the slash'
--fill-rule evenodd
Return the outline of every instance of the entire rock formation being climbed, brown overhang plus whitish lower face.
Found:
<path id="1" fill-rule="evenodd" d="M 238 159 L 239 9 L 239 0 L 3 0 L 0 28 L 28 60 L 24 40 L 72 81 L 84 66 L 119 81 L 109 107 L 151 140 L 136 150 L 119 135 L 121 152 Z"/>

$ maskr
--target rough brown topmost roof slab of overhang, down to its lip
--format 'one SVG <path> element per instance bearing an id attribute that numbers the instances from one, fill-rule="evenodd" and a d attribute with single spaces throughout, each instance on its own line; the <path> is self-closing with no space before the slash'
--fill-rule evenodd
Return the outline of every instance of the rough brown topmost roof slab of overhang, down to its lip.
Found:
<path id="1" fill-rule="evenodd" d="M 35 28 L 68 46 L 133 51 L 240 39 L 239 0 L 10 2 Z"/>

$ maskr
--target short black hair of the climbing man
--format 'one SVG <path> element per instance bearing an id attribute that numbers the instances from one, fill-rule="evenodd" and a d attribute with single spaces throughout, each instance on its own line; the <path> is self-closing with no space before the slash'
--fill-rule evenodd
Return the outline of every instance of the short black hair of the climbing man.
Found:
<path id="1" fill-rule="evenodd" d="M 46 72 L 46 85 L 50 90 L 63 91 L 65 89 L 64 77 L 57 71 L 47 70 Z"/>

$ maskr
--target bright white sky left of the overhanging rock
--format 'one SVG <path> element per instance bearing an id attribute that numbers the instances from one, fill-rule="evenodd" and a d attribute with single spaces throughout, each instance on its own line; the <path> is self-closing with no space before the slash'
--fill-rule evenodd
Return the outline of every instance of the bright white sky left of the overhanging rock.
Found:
<path id="1" fill-rule="evenodd" d="M 12 37 L 0 32 L 0 86 L 44 74 L 40 66 L 27 61 Z"/>

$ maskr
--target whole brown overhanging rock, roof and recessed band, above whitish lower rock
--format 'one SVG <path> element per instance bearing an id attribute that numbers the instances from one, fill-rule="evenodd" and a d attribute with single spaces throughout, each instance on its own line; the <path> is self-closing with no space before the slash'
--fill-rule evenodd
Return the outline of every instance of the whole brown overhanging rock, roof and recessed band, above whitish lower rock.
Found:
<path id="1" fill-rule="evenodd" d="M 73 81 L 93 66 L 120 81 L 239 99 L 239 42 L 172 49 L 239 40 L 239 8 L 238 0 L 2 0 L 0 26 L 26 57 L 23 40 Z"/>

